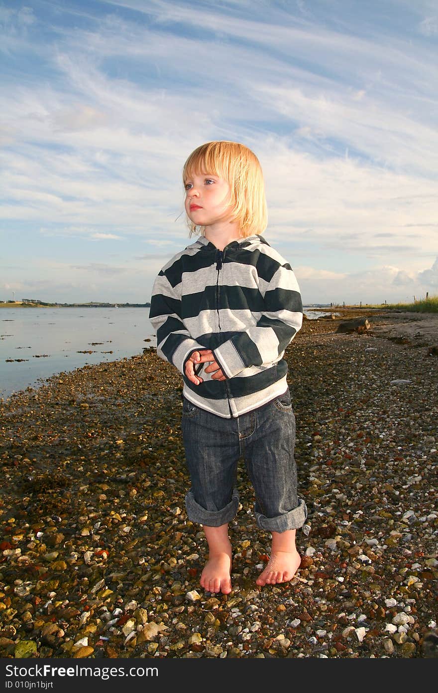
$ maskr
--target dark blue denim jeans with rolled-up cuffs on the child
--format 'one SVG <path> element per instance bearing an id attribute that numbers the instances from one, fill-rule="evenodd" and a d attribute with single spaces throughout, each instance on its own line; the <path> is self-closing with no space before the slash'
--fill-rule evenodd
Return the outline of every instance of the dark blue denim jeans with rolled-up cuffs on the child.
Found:
<path id="1" fill-rule="evenodd" d="M 297 495 L 295 416 L 289 389 L 232 419 L 210 414 L 183 397 L 181 426 L 192 483 L 185 496 L 189 520 L 220 527 L 235 518 L 237 462 L 243 457 L 255 491 L 257 525 L 268 532 L 304 525 L 307 507 Z"/>

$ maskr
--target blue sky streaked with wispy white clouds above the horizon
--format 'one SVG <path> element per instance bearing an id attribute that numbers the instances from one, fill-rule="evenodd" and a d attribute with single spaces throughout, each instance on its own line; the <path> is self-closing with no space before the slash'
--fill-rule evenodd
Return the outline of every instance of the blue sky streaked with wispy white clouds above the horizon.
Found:
<path id="1" fill-rule="evenodd" d="M 0 299 L 148 301 L 241 141 L 305 304 L 438 294 L 436 0 L 0 0 Z"/>

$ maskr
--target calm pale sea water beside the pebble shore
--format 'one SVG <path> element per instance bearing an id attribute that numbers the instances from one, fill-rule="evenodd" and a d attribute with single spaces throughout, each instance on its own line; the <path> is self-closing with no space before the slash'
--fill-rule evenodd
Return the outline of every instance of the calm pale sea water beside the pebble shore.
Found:
<path id="1" fill-rule="evenodd" d="M 323 313 L 307 310 L 310 319 Z M 0 308 L 0 397 L 156 347 L 149 308 Z"/>

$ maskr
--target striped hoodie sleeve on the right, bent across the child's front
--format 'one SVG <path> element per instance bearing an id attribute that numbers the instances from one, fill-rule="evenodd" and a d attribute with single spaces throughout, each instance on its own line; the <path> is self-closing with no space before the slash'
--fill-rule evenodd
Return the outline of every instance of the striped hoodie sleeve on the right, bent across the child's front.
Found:
<path id="1" fill-rule="evenodd" d="M 266 258 L 265 258 L 266 262 Z M 271 276 L 259 280 L 264 310 L 257 324 L 235 333 L 214 350 L 222 372 L 228 378 L 250 366 L 269 367 L 282 358 L 284 349 L 302 326 L 300 288 L 286 261 L 271 263 Z M 266 276 L 266 272 L 264 273 Z"/>

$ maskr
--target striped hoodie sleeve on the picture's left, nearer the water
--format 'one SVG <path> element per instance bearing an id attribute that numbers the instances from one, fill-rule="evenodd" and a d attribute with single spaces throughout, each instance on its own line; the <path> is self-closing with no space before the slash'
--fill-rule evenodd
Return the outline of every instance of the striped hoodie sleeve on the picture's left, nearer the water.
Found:
<path id="1" fill-rule="evenodd" d="M 172 286 L 163 270 L 154 282 L 149 319 L 156 330 L 157 355 L 183 374 L 190 353 L 205 347 L 190 336 L 181 319 L 181 283 Z"/>

